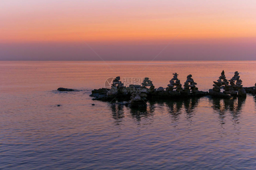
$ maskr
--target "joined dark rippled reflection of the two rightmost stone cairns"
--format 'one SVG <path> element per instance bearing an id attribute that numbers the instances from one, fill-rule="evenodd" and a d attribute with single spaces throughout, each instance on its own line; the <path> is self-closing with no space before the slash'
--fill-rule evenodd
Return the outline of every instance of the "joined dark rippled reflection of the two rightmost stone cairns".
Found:
<path id="1" fill-rule="evenodd" d="M 227 113 L 230 113 L 234 123 L 239 123 L 239 114 L 242 111 L 246 98 L 231 98 L 220 99 L 211 98 L 212 108 L 219 114 L 219 121 L 221 124 L 225 124 L 225 117 Z"/>

